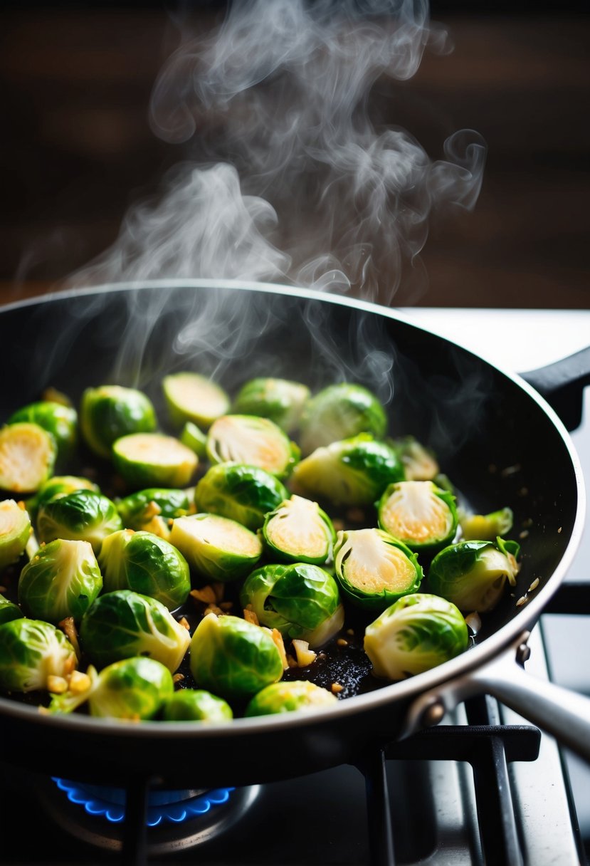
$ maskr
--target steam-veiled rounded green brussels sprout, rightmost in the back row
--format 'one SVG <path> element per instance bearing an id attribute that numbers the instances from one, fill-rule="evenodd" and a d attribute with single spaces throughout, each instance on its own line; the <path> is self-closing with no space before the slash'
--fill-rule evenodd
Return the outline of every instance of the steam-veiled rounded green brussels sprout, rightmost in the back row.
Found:
<path id="1" fill-rule="evenodd" d="M 305 455 L 323 445 L 369 433 L 382 439 L 388 419 L 379 399 L 362 385 L 328 385 L 305 404 L 299 419 L 299 444 Z"/>

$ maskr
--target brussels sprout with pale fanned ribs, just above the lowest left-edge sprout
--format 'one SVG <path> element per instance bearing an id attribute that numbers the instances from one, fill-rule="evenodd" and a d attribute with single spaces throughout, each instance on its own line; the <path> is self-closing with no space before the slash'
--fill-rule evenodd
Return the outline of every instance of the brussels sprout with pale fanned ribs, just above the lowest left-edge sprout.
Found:
<path id="1" fill-rule="evenodd" d="M 99 564 L 88 541 L 56 539 L 42 545 L 18 579 L 18 602 L 28 617 L 57 625 L 79 622 L 102 589 Z"/>

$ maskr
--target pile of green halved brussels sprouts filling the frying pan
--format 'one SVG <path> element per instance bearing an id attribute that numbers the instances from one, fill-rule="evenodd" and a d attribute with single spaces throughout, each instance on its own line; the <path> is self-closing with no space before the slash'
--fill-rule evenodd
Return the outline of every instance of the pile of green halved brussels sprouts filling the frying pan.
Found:
<path id="1" fill-rule="evenodd" d="M 322 708 L 465 652 L 516 583 L 510 508 L 472 514 L 366 387 L 183 371 L 160 396 L 51 391 L 0 429 L 0 694 L 131 721 Z"/>

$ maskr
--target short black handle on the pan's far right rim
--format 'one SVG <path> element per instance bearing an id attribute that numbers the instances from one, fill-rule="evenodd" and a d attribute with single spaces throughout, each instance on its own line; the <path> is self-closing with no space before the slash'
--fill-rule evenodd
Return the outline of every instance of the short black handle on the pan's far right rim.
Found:
<path id="1" fill-rule="evenodd" d="M 545 397 L 568 430 L 580 426 L 582 391 L 590 385 L 590 346 L 545 367 L 520 374 Z"/>

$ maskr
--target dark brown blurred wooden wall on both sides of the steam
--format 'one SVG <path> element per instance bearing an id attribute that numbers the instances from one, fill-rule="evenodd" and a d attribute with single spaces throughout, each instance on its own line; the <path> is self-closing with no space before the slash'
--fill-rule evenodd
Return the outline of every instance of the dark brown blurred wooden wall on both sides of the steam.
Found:
<path id="1" fill-rule="evenodd" d="M 451 55 L 398 83 L 422 143 L 461 128 L 488 145 L 475 210 L 433 222 L 426 307 L 590 307 L 590 23 L 584 5 L 431 3 Z M 193 3 L 208 27 L 221 3 Z M 176 47 L 173 4 L 4 3 L 0 302 L 59 288 L 116 238 L 177 159 L 147 107 Z M 399 115 L 397 117 L 399 122 Z M 173 276 L 173 275 L 171 275 Z M 400 306 L 405 303 L 400 298 Z"/>

